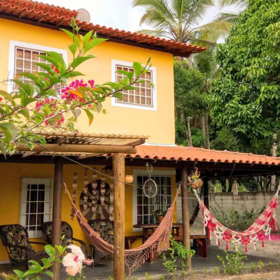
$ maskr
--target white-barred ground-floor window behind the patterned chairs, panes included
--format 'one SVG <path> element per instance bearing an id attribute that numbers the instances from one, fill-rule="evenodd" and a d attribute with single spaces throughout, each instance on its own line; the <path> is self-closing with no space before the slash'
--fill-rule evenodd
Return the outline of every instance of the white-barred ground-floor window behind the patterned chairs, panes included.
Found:
<path id="1" fill-rule="evenodd" d="M 42 223 L 52 215 L 52 179 L 23 178 L 20 224 L 29 237 L 42 236 Z"/>

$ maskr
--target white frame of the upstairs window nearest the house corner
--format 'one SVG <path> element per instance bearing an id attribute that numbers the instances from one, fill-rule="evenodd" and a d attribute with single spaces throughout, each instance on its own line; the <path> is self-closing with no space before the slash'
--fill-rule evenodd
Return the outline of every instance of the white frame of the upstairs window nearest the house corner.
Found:
<path id="1" fill-rule="evenodd" d="M 121 61 L 112 59 L 111 61 L 111 74 L 112 74 L 112 82 L 116 82 L 116 66 L 122 65 L 123 67 L 132 67 L 132 62 Z M 115 97 L 112 97 L 111 105 L 116 107 L 123 108 L 131 108 L 131 109 L 140 109 L 140 110 L 148 110 L 148 111 L 156 111 L 157 110 L 157 99 L 156 99 L 156 67 L 150 67 L 152 72 L 152 83 L 155 87 L 152 89 L 152 106 L 151 105 L 138 105 L 138 104 L 130 104 L 125 102 L 117 102 Z"/>

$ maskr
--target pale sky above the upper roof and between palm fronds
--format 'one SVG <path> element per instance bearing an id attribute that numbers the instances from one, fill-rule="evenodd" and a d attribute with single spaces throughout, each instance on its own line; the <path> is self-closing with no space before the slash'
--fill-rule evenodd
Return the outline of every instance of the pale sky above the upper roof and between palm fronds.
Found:
<path id="1" fill-rule="evenodd" d="M 147 26 L 139 26 L 140 18 L 144 12 L 142 7 L 132 7 L 132 0 L 42 0 L 48 4 L 65 7 L 71 10 L 86 9 L 91 15 L 91 23 L 107 27 L 137 31 Z M 223 11 L 238 12 L 236 7 L 226 7 Z M 200 25 L 213 20 L 221 12 L 217 6 L 208 9 Z"/>

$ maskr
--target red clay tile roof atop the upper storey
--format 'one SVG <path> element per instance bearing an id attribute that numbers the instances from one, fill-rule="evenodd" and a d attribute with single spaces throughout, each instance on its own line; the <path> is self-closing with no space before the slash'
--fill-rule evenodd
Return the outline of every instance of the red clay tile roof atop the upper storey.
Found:
<path id="1" fill-rule="evenodd" d="M 77 11 L 64 7 L 44 4 L 30 0 L 0 0 L 0 17 L 59 29 L 69 28 L 71 18 L 77 17 Z M 155 49 L 178 56 L 187 57 L 206 48 L 180 43 L 164 38 L 138 34 L 125 30 L 107 28 L 92 23 L 79 22 L 82 31 L 95 30 L 103 38 L 122 44 L 136 45 L 146 49 Z"/>

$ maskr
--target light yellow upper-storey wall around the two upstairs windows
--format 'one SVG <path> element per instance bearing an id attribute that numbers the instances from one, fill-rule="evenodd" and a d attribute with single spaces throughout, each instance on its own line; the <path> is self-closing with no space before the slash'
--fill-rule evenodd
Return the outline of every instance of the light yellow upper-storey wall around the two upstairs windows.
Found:
<path id="1" fill-rule="evenodd" d="M 71 39 L 62 31 L 31 26 L 16 21 L 0 19 L 1 67 L 0 80 L 8 75 L 9 41 L 21 41 L 59 49 L 67 49 Z M 172 54 L 143 49 L 139 47 L 104 42 L 89 53 L 97 58 L 90 59 L 79 67 L 86 74 L 86 80 L 96 83 L 111 81 L 111 60 L 145 63 L 152 57 L 152 66 L 156 67 L 157 111 L 130 109 L 111 106 L 111 99 L 103 103 L 107 114 L 98 114 L 88 127 L 88 119 L 82 114 L 78 119 L 77 129 L 89 133 L 126 133 L 150 135 L 147 142 L 174 144 L 174 84 Z M 68 51 L 68 61 L 72 57 Z M 6 88 L 5 88 L 6 89 Z"/>

